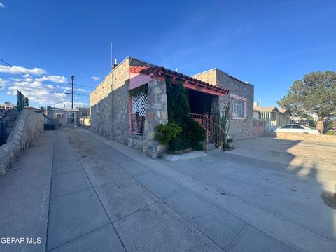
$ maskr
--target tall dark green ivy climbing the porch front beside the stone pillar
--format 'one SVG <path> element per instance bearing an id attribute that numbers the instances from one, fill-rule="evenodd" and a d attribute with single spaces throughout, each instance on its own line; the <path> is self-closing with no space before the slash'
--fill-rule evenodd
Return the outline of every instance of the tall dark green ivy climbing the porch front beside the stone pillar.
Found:
<path id="1" fill-rule="evenodd" d="M 205 130 L 190 116 L 190 106 L 186 88 L 182 81 L 172 83 L 167 78 L 168 122 L 175 123 L 182 131 L 169 143 L 169 151 L 182 151 L 188 148 L 202 150 L 202 142 L 206 139 Z"/>

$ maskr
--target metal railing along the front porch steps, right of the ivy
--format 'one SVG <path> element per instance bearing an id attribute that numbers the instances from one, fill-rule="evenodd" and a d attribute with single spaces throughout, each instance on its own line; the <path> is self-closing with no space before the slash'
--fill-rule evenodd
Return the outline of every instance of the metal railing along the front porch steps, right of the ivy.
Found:
<path id="1" fill-rule="evenodd" d="M 216 118 L 214 115 L 202 115 L 202 114 L 190 113 L 190 116 L 192 116 L 195 121 L 200 123 L 200 125 L 207 132 L 207 143 L 206 143 L 207 147 L 204 148 L 205 152 L 208 152 L 208 144 L 210 141 L 213 142 L 218 148 L 223 147 L 225 132 L 220 125 L 215 123 L 214 120 L 216 120 Z"/>

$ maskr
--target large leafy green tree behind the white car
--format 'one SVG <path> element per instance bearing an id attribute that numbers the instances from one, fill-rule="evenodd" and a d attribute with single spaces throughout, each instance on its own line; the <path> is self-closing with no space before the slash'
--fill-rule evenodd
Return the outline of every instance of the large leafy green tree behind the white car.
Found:
<path id="1" fill-rule="evenodd" d="M 323 131 L 324 121 L 336 114 L 336 73 L 306 74 L 303 80 L 296 80 L 277 103 L 296 116 L 317 114 L 317 127 Z"/>

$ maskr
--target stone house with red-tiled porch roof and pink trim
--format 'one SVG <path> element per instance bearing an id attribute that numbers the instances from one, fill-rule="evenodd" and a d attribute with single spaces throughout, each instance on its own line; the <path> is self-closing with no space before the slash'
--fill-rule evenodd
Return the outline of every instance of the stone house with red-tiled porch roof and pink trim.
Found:
<path id="1" fill-rule="evenodd" d="M 209 123 L 231 102 L 230 134 L 235 139 L 251 137 L 253 85 L 218 69 L 190 77 L 133 57 L 113 65 L 90 93 L 91 130 L 157 158 L 164 148 L 155 140 L 155 130 L 168 122 L 167 78 L 183 82 L 195 120 L 206 118 Z"/>

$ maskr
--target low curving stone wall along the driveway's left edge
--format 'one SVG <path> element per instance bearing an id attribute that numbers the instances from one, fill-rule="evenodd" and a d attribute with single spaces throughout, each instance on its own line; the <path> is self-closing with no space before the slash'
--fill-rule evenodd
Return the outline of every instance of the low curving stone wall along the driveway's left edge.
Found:
<path id="1" fill-rule="evenodd" d="M 25 109 L 21 111 L 6 144 L 0 146 L 0 178 L 20 158 L 29 144 L 43 132 L 43 123 L 41 113 Z"/>

